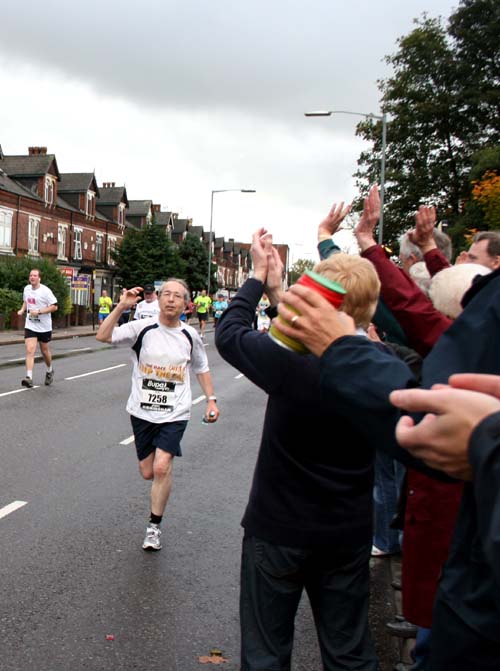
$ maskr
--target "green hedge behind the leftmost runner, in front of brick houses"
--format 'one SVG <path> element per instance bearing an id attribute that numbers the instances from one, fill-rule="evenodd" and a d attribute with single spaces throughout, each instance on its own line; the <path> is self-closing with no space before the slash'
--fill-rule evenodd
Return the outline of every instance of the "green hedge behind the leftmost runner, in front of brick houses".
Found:
<path id="1" fill-rule="evenodd" d="M 57 298 L 56 315 L 66 315 L 68 310 L 67 298 L 69 288 L 65 277 L 58 267 L 48 259 L 32 259 L 29 257 L 7 256 L 0 258 L 0 286 L 4 289 L 12 289 L 21 294 L 21 300 L 17 310 L 22 305 L 22 294 L 24 287 L 28 284 L 30 270 L 38 268 L 42 276 L 42 284 L 46 284 Z"/>

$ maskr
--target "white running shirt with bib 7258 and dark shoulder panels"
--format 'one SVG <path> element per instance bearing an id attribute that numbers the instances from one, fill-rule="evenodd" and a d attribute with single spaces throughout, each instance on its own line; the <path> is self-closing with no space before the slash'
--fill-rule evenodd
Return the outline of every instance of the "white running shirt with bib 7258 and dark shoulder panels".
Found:
<path id="1" fill-rule="evenodd" d="M 192 352 L 191 342 L 183 330 L 191 336 Z M 190 418 L 189 372 L 192 370 L 197 375 L 209 371 L 203 342 L 192 326 L 183 323 L 169 328 L 160 324 L 156 317 L 139 319 L 115 328 L 111 342 L 117 346 L 136 347 L 131 352 L 129 414 L 153 424 Z"/>

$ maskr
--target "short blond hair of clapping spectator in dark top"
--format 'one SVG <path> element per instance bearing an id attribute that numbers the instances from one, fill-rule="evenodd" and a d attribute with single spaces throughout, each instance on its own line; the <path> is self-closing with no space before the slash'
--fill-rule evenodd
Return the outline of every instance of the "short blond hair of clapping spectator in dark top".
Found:
<path id="1" fill-rule="evenodd" d="M 314 272 L 344 287 L 347 293 L 340 310 L 350 315 L 356 326 L 366 330 L 380 294 L 380 280 L 371 261 L 339 252 L 317 263 Z"/>

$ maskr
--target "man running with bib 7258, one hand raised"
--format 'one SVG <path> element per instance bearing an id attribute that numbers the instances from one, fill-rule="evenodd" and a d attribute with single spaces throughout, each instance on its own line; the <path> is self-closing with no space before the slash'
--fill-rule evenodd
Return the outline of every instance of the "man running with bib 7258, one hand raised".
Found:
<path id="1" fill-rule="evenodd" d="M 123 291 L 96 338 L 132 348 L 127 412 L 131 415 L 139 470 L 145 480 L 152 480 L 151 516 L 142 547 L 160 550 L 160 523 L 172 487 L 173 461 L 181 456 L 180 441 L 190 417 L 190 370 L 207 398 L 206 421 L 216 422 L 219 410 L 201 338 L 192 326 L 180 321 L 189 301 L 189 289 L 183 280 L 171 278 L 163 283 L 158 318 L 115 328 L 122 312 L 136 304 L 141 291 L 141 287 Z"/>

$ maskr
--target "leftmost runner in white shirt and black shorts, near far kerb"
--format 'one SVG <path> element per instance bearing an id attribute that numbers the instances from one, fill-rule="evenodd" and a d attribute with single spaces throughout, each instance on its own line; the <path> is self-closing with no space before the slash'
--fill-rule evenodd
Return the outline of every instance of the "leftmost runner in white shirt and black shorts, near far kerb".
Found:
<path id="1" fill-rule="evenodd" d="M 29 279 L 24 287 L 23 305 L 17 314 L 21 317 L 26 312 L 24 326 L 24 344 L 26 347 L 26 377 L 21 380 L 23 387 L 33 387 L 33 368 L 35 365 L 35 351 L 37 342 L 40 343 L 40 352 L 47 366 L 45 384 L 52 384 L 54 370 L 52 368 L 52 354 L 49 342 L 52 338 L 52 316 L 57 310 L 57 298 L 49 287 L 41 283 L 41 273 L 38 268 L 30 271 Z"/>

